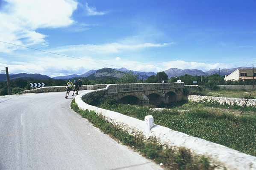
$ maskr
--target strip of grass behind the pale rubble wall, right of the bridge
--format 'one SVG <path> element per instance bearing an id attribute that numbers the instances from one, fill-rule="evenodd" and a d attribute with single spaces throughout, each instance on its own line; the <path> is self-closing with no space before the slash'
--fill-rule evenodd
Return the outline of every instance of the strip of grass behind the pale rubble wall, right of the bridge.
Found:
<path id="1" fill-rule="evenodd" d="M 217 97 L 227 97 L 227 98 L 248 98 L 250 95 L 249 91 L 245 90 L 230 90 L 230 89 L 202 89 L 194 90 L 189 92 L 189 95 L 207 95 L 207 96 L 217 96 Z M 256 90 L 252 91 L 251 99 L 256 99 Z"/>

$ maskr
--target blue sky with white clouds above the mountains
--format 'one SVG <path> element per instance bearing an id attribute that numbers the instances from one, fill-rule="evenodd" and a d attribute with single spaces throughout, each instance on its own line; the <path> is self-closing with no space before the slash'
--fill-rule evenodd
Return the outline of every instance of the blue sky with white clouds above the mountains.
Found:
<path id="1" fill-rule="evenodd" d="M 256 0 L 0 0 L 0 70 L 159 72 L 256 63 Z M 71 58 L 74 57 L 74 58 Z"/>

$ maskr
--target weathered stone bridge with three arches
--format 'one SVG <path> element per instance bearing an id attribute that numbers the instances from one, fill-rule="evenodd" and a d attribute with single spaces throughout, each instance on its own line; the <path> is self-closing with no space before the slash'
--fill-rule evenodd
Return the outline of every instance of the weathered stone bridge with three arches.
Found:
<path id="1" fill-rule="evenodd" d="M 109 84 L 105 96 L 123 103 L 170 104 L 187 100 L 184 83 Z"/>

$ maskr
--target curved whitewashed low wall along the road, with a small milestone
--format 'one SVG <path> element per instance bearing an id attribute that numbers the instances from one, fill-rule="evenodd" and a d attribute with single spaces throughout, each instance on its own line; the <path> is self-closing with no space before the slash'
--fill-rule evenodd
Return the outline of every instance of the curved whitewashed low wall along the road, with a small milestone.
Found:
<path id="1" fill-rule="evenodd" d="M 154 124 L 150 133 L 148 133 L 145 121 L 118 112 L 94 107 L 82 101 L 83 96 L 86 95 L 90 95 L 91 97 L 104 95 L 108 87 L 109 86 L 105 89 L 88 91 L 77 95 L 75 101 L 79 109 L 93 110 L 97 114 L 103 115 L 106 120 L 115 126 L 126 130 L 131 135 L 135 132 L 140 132 L 146 137 L 156 137 L 160 143 L 167 144 L 169 147 L 185 147 L 195 154 L 208 156 L 211 158 L 212 163 L 225 166 L 228 170 L 256 170 L 256 157 L 254 156 L 156 124 Z"/>

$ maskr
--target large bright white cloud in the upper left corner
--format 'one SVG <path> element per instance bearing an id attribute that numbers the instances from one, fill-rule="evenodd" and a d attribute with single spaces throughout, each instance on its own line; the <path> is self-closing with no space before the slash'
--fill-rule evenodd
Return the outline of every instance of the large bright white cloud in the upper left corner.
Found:
<path id="1" fill-rule="evenodd" d="M 38 28 L 58 28 L 74 23 L 71 15 L 77 9 L 75 0 L 5 0 L 0 12 L 0 39 L 18 45 L 47 45 Z M 17 49 L 0 43 L 0 52 Z"/>

